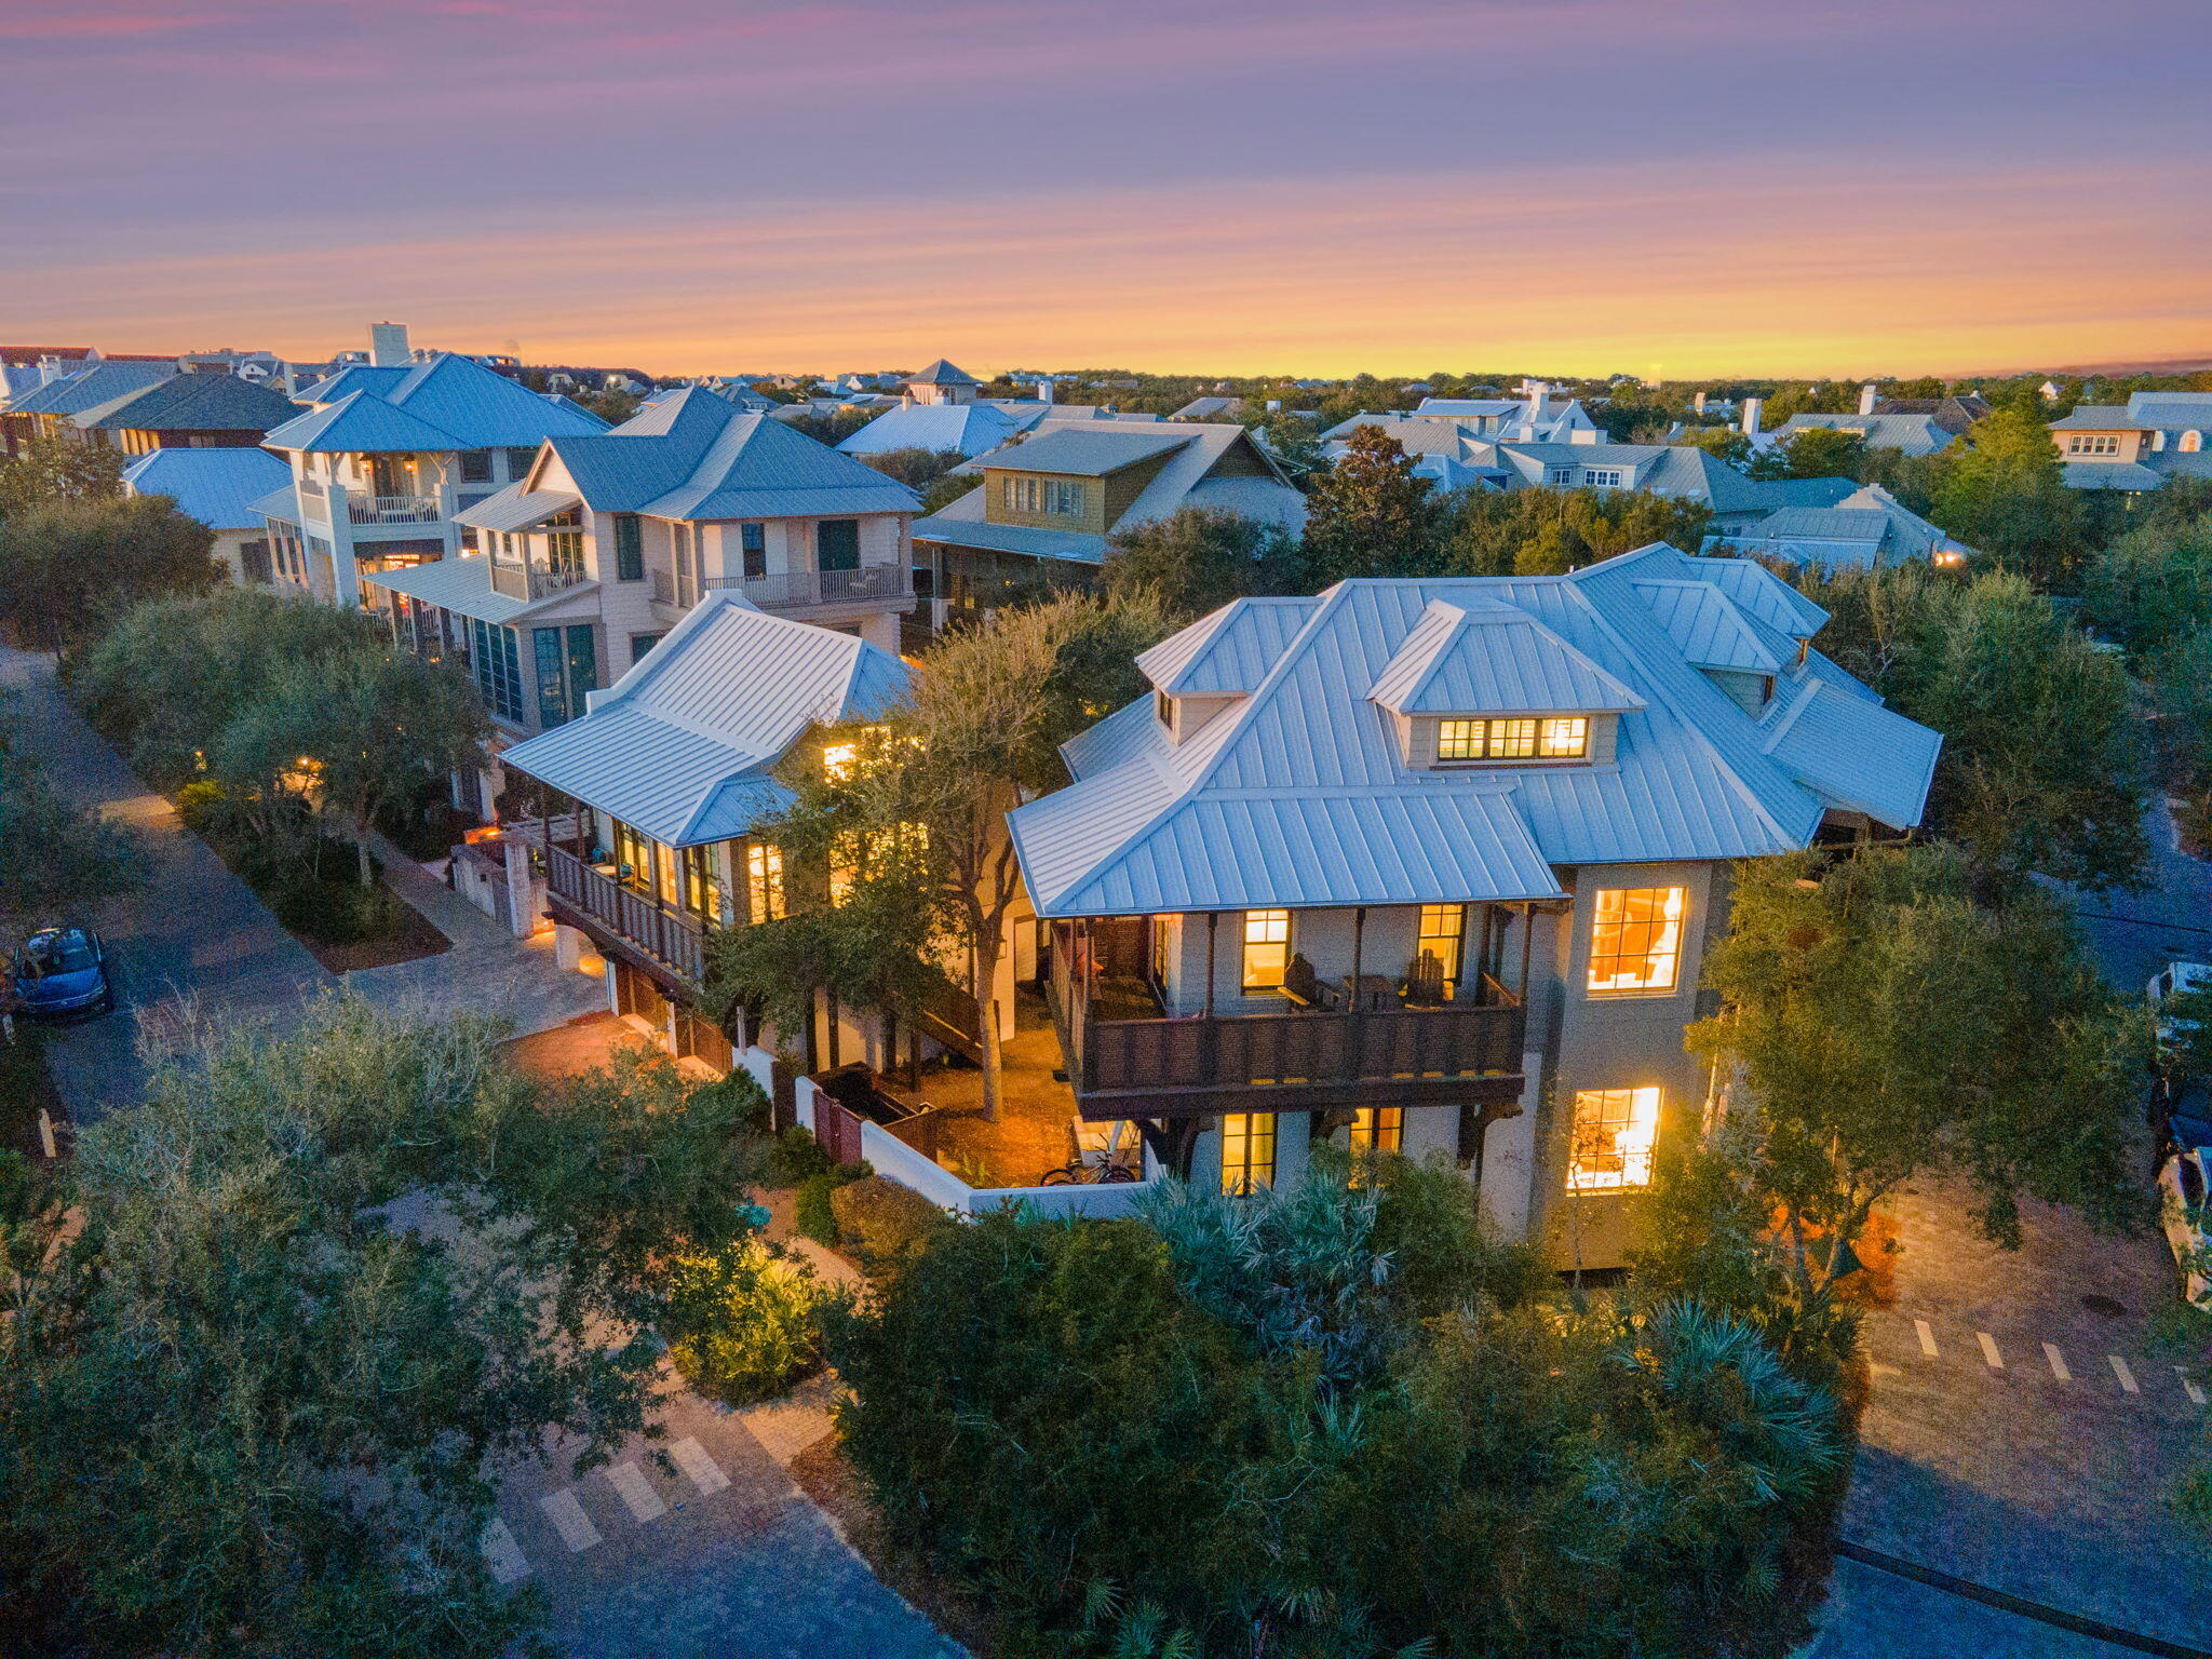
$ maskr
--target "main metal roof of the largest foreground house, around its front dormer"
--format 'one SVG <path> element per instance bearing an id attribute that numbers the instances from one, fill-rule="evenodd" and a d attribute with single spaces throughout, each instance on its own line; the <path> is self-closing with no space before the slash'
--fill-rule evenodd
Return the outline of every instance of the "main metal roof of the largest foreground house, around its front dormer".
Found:
<path id="1" fill-rule="evenodd" d="M 1772 726 L 1714 686 L 1639 593 L 1677 582 L 1710 582 L 1754 639 L 1774 619 L 1818 626 L 1818 608 L 1781 597 L 1785 584 L 1756 564 L 1663 544 L 1571 575 L 1360 580 L 1283 606 L 1283 626 L 1248 635 L 1230 655 L 1252 661 L 1219 681 L 1241 688 L 1263 666 L 1250 695 L 1181 743 L 1150 701 L 1133 703 L 1064 750 L 1071 787 L 1009 814 L 1037 914 L 1544 898 L 1557 865 L 1803 847 L 1838 803 L 1918 818 L 1931 732 L 1885 714 L 1818 653 L 1803 664 L 1792 653 L 1774 706 L 1807 688 L 1834 695 L 1851 743 L 1818 757 L 1787 734 L 1770 743 Z M 1528 622 L 1464 622 L 1480 611 Z M 1241 626 L 1230 615 L 1194 624 L 1146 653 L 1146 672 L 1172 684 Z M 1418 686 L 1440 639 L 1458 635 L 1471 675 L 1502 675 L 1473 661 L 1480 644 L 1513 641 L 1524 626 L 1542 635 L 1520 639 L 1557 639 L 1566 661 L 1632 695 L 1613 763 L 1409 770 L 1369 690 L 1385 677 Z"/>

